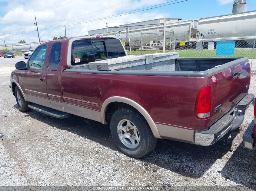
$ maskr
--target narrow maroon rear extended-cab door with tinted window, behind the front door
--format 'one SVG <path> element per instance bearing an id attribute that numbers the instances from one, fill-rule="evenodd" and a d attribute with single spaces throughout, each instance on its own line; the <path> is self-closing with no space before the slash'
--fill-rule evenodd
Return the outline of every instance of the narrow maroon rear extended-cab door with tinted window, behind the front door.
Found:
<path id="1" fill-rule="evenodd" d="M 62 95 L 61 87 L 61 56 L 63 57 L 65 52 L 61 54 L 62 43 L 54 43 L 51 48 L 49 65 L 47 68 L 47 92 L 50 98 L 50 107 L 55 110 L 65 111 L 65 102 Z M 61 59 L 63 62 L 63 59 Z"/>

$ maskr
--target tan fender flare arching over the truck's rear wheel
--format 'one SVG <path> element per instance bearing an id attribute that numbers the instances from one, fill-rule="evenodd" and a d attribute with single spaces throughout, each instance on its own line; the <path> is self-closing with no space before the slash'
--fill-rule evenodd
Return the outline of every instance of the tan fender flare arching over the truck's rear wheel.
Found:
<path id="1" fill-rule="evenodd" d="M 146 119 L 155 138 L 161 138 L 160 134 L 157 130 L 157 127 L 156 127 L 153 119 L 151 118 L 151 116 L 148 114 L 148 112 L 143 107 L 141 107 L 141 105 L 139 105 L 135 101 L 128 99 L 126 97 L 114 96 L 114 97 L 109 97 L 108 99 L 106 99 L 104 101 L 104 103 L 102 104 L 102 107 L 101 107 L 101 123 L 108 124 L 105 120 L 105 112 L 106 112 L 106 108 L 108 107 L 108 104 L 110 104 L 112 102 L 126 103 L 126 104 L 134 107 Z"/>

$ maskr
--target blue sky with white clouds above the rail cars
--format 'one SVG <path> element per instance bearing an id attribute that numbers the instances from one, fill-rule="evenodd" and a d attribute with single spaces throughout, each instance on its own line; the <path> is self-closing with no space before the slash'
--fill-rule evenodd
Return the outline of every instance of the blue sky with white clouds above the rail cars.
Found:
<path id="1" fill-rule="evenodd" d="M 171 1 L 180 3 L 100 21 L 84 22 Z M 91 0 L 0 0 L 0 46 L 4 44 L 2 39 L 7 44 L 17 44 L 19 40 L 38 41 L 34 15 L 37 18 L 40 39 L 44 41 L 52 40 L 54 36 L 64 36 L 64 24 L 67 36 L 74 37 L 87 35 L 88 30 L 105 28 L 106 22 L 111 27 L 156 18 L 182 18 L 185 21 L 231 14 L 234 0 L 181 1 L 183 0 L 96 0 L 93 4 Z M 256 0 L 246 2 L 247 11 L 256 10 Z M 74 22 L 84 23 L 68 25 Z"/>

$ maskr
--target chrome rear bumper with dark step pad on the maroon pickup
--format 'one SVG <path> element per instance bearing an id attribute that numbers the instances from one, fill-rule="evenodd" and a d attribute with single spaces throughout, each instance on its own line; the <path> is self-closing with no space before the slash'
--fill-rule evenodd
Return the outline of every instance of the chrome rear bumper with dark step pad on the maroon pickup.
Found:
<path id="1" fill-rule="evenodd" d="M 228 111 L 206 131 L 196 131 L 196 145 L 208 146 L 217 142 L 224 135 L 238 129 L 244 121 L 244 114 L 251 105 L 254 95 L 246 95 L 237 105 Z"/>

